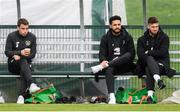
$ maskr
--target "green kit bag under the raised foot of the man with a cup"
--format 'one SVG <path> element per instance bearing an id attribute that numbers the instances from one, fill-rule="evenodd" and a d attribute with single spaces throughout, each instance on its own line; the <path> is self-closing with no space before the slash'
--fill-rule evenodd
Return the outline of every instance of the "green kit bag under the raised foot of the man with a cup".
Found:
<path id="1" fill-rule="evenodd" d="M 63 95 L 56 90 L 53 84 L 50 84 L 48 87 L 32 93 L 30 98 L 25 99 L 25 103 L 55 103 L 56 99 L 62 97 Z"/>

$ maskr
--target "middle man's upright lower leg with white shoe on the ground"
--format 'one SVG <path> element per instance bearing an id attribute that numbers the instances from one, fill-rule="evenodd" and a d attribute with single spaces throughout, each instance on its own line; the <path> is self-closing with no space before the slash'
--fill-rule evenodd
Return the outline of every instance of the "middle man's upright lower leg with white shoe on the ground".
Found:
<path id="1" fill-rule="evenodd" d="M 108 67 L 105 69 L 105 75 L 106 75 L 106 84 L 107 89 L 109 93 L 109 102 L 108 104 L 116 104 L 116 98 L 114 94 L 114 68 Z"/>

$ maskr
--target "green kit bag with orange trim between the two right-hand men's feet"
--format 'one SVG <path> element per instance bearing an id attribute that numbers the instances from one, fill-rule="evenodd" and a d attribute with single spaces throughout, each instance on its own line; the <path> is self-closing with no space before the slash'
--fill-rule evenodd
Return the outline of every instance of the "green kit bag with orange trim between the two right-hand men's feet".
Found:
<path id="1" fill-rule="evenodd" d="M 147 103 L 147 89 L 124 89 L 118 88 L 115 94 L 117 103 L 128 103 L 128 104 L 146 104 Z M 157 102 L 157 97 L 153 95 L 153 103 Z"/>

